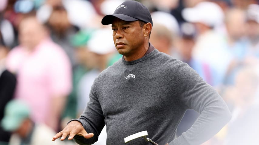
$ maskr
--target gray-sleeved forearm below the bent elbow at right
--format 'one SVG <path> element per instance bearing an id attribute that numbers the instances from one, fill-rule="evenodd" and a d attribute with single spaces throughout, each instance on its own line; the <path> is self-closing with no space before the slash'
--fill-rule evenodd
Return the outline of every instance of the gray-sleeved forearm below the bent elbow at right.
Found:
<path id="1" fill-rule="evenodd" d="M 199 145 L 217 134 L 230 118 L 227 107 L 206 108 L 192 127 L 169 145 Z"/>

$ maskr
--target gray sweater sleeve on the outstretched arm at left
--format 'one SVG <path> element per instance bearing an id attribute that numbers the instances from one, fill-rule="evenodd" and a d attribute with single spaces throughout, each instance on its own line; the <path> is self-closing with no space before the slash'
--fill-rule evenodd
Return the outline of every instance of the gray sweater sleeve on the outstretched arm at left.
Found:
<path id="1" fill-rule="evenodd" d="M 105 125 L 103 111 L 95 91 L 96 84 L 98 82 L 97 80 L 98 78 L 95 79 L 94 84 L 92 85 L 89 95 L 89 102 L 87 103 L 87 106 L 82 115 L 79 119 L 73 119 L 79 121 L 83 125 L 87 133 L 94 134 L 94 136 L 90 139 L 85 139 L 82 136 L 76 135 L 74 137 L 74 141 L 80 145 L 90 145 L 95 143 L 98 140 L 98 136 Z"/>

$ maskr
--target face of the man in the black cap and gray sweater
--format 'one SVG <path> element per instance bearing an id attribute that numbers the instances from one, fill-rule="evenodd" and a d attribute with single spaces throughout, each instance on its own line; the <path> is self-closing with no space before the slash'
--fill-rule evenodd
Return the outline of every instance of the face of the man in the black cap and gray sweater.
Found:
<path id="1" fill-rule="evenodd" d="M 113 41 L 118 52 L 126 57 L 134 56 L 144 49 L 144 28 L 139 21 L 113 20 Z"/>

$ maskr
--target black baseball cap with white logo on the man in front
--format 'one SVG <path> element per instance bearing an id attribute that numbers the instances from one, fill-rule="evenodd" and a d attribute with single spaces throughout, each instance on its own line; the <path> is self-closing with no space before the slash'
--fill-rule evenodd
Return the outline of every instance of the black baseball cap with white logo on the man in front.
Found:
<path id="1" fill-rule="evenodd" d="M 150 22 L 153 26 L 150 11 L 140 2 L 125 1 L 119 5 L 113 14 L 108 14 L 103 17 L 102 24 L 112 24 L 114 17 L 123 21 L 137 21 L 141 20 L 146 23 Z"/>

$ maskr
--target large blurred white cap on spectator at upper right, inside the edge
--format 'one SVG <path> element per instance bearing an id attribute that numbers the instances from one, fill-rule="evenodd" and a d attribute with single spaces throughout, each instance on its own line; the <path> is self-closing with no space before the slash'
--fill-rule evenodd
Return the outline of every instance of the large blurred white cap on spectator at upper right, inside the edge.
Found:
<path id="1" fill-rule="evenodd" d="M 200 2 L 193 8 L 185 8 L 182 15 L 189 22 L 200 22 L 208 26 L 219 26 L 224 22 L 224 12 L 214 2 Z"/>

